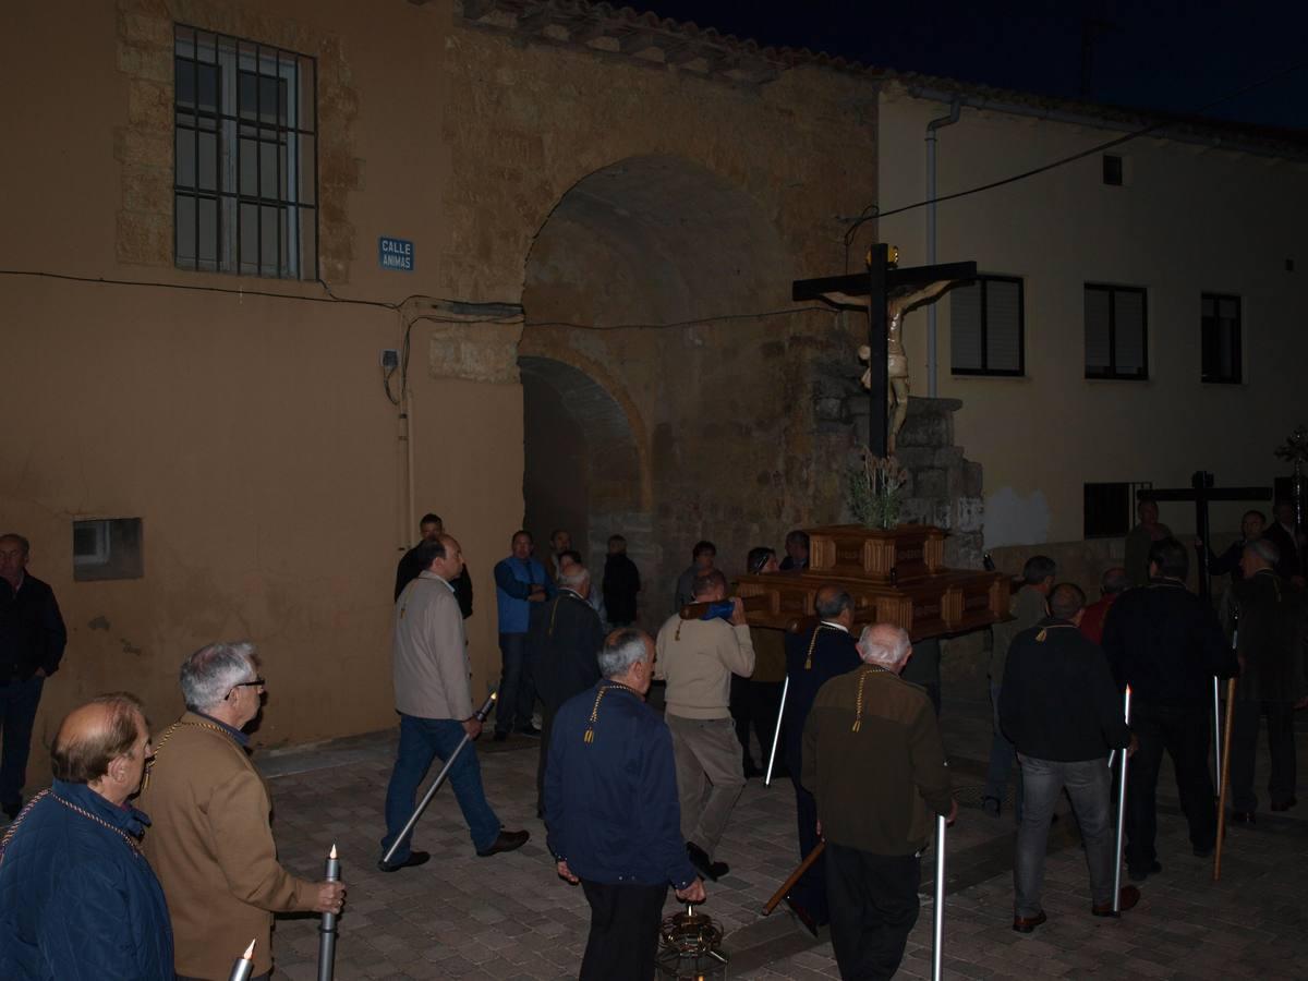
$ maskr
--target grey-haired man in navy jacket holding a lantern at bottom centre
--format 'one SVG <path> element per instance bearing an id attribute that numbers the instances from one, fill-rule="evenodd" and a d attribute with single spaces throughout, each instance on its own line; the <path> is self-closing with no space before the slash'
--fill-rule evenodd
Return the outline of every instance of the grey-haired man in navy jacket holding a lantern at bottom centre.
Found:
<path id="1" fill-rule="evenodd" d="M 579 981 L 647 981 L 668 883 L 683 903 L 702 903 L 704 883 L 681 840 L 672 735 L 645 705 L 654 642 L 615 630 L 599 671 L 600 681 L 555 718 L 545 841 L 559 875 L 581 883 L 591 909 Z"/>

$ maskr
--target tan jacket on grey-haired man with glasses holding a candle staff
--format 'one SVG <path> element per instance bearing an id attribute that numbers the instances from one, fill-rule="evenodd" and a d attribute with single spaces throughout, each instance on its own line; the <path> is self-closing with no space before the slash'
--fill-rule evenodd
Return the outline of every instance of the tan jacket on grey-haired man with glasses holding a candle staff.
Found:
<path id="1" fill-rule="evenodd" d="M 160 735 L 137 804 L 145 857 L 164 886 L 177 972 L 224 981 L 251 939 L 254 973 L 272 969 L 272 913 L 310 910 L 318 886 L 277 863 L 263 778 L 245 749 L 187 712 Z"/>

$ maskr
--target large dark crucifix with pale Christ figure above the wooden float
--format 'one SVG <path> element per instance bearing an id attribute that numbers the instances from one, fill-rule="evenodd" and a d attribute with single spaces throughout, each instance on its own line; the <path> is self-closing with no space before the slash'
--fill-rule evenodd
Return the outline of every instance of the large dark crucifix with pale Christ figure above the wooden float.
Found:
<path id="1" fill-rule="evenodd" d="M 867 361 L 863 374 L 870 408 L 867 447 L 875 456 L 893 455 L 895 439 L 908 413 L 908 354 L 900 332 L 904 314 L 977 276 L 976 263 L 901 269 L 897 260 L 897 249 L 874 245 L 867 254 L 866 273 L 795 280 L 790 289 L 795 301 L 821 300 L 841 310 L 867 311 L 867 344 L 859 358 Z"/>

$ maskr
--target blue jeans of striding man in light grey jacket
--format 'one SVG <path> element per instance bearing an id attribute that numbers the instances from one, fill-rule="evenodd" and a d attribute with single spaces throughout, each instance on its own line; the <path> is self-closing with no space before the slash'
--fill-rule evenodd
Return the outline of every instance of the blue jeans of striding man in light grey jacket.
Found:
<path id="1" fill-rule="evenodd" d="M 395 769 L 386 787 L 386 837 L 382 850 L 391 846 L 399 836 L 404 821 L 413 814 L 417 804 L 417 789 L 437 756 L 445 763 L 463 739 L 463 723 L 453 718 L 419 718 L 400 713 L 400 747 L 395 753 Z M 477 763 L 475 746 L 463 747 L 454 761 L 449 776 L 454 797 L 463 811 L 463 820 L 472 832 L 472 844 L 483 852 L 500 837 L 500 819 L 487 803 L 481 790 L 481 764 Z M 400 844 L 391 862 L 404 862 L 409 857 L 409 838 Z"/>

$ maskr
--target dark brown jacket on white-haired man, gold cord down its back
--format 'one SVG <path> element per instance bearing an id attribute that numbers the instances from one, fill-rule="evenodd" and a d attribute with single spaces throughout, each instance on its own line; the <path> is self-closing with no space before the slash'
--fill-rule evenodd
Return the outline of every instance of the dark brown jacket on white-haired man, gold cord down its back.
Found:
<path id="1" fill-rule="evenodd" d="M 818 798 L 823 836 L 876 855 L 920 850 L 935 815 L 952 804 L 931 700 L 870 664 L 818 689 L 804 723 L 802 780 Z"/>

